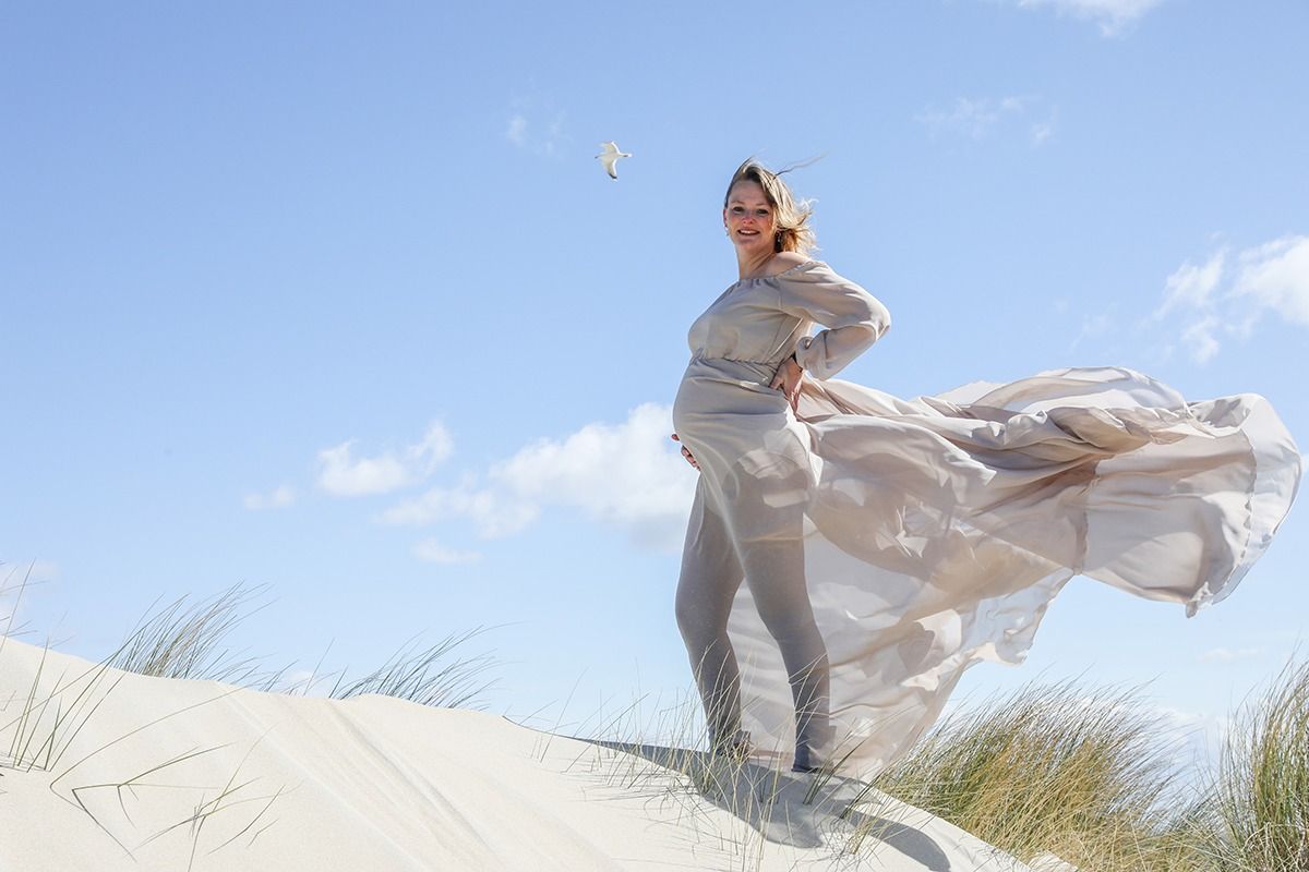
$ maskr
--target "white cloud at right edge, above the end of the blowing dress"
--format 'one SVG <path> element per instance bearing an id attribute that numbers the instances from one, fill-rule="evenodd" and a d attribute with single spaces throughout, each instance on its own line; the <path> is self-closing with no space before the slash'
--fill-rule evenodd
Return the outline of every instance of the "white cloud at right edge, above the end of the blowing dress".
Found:
<path id="1" fill-rule="evenodd" d="M 1227 337 L 1249 339 L 1268 312 L 1309 327 L 1309 237 L 1285 235 L 1234 259 L 1224 246 L 1200 264 L 1187 260 L 1164 282 L 1148 323 L 1178 319 L 1178 340 L 1206 363 Z"/>

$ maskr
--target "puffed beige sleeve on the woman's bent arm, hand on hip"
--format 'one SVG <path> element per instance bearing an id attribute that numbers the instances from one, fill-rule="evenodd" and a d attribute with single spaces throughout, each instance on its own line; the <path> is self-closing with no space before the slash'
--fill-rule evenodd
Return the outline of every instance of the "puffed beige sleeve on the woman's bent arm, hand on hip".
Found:
<path id="1" fill-rule="evenodd" d="M 779 290 L 781 310 L 801 320 L 802 333 L 809 322 L 826 327 L 793 345 L 796 361 L 816 379 L 831 378 L 890 329 L 886 306 L 821 260 L 787 273 Z"/>

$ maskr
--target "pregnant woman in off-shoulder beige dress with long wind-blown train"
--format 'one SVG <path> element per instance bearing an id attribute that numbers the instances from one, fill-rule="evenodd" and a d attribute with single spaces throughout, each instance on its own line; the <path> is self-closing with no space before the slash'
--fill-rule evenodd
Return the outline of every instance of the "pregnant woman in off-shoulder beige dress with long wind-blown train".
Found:
<path id="1" fill-rule="evenodd" d="M 1073 575 L 1187 616 L 1232 592 L 1300 482 L 1263 397 L 1187 403 L 1121 367 L 915 400 L 834 379 L 890 314 L 806 255 L 809 216 L 759 163 L 733 174 L 741 277 L 691 326 L 673 405 L 712 753 L 870 774 L 969 665 L 1021 663 Z"/>

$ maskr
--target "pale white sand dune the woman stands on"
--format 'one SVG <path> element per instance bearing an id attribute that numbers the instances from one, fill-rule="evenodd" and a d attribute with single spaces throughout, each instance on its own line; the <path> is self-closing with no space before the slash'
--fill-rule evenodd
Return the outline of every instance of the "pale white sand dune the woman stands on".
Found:
<path id="1" fill-rule="evenodd" d="M 656 750 L 389 697 L 151 679 L 4 639 L 0 869 L 1026 869 L 884 795 L 863 813 L 895 825 L 838 859 L 852 825 L 834 811 L 857 783 L 805 803 L 813 777 L 755 766 L 724 787 L 741 799 L 711 801 Z M 771 807 L 745 800 L 764 790 Z"/>

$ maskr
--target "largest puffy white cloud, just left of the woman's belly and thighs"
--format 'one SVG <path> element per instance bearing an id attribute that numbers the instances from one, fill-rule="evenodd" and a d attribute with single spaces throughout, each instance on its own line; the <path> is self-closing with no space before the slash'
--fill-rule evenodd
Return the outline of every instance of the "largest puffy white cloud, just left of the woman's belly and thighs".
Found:
<path id="1" fill-rule="evenodd" d="M 695 473 L 669 439 L 672 409 L 645 403 L 622 424 L 588 424 L 563 439 L 539 439 L 493 464 L 484 484 L 465 476 L 382 512 L 393 524 L 463 516 L 483 537 L 521 531 L 550 507 L 626 529 L 641 546 L 675 552 Z"/>

